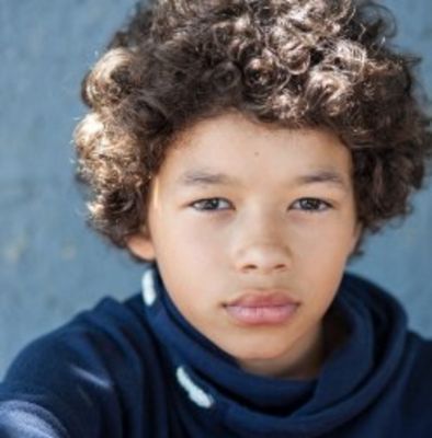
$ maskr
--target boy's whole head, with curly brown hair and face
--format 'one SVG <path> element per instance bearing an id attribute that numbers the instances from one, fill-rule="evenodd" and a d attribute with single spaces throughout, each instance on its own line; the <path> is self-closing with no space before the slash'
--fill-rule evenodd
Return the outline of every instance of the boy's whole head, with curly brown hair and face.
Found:
<path id="1" fill-rule="evenodd" d="M 385 42 L 378 11 L 160 0 L 83 81 L 92 224 L 156 258 L 182 313 L 251 369 L 278 358 L 295 374 L 293 357 L 317 354 L 348 257 L 422 184 L 432 141 L 414 60 Z M 291 302 L 237 306 L 255 296 Z"/>

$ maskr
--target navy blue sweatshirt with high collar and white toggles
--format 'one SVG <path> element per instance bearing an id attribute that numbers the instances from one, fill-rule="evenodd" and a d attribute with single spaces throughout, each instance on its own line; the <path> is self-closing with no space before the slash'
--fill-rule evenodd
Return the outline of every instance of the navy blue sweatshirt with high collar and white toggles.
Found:
<path id="1" fill-rule="evenodd" d="M 311 380 L 239 368 L 179 313 L 157 268 L 34 341 L 0 384 L 1 438 L 432 437 L 432 343 L 397 301 L 345 274 L 345 343 Z"/>

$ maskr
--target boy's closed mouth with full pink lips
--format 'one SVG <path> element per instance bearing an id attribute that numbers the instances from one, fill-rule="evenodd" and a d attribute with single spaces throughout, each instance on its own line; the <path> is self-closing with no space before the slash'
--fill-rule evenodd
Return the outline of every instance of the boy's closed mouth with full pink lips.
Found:
<path id="1" fill-rule="evenodd" d="M 224 304 L 240 325 L 276 325 L 292 319 L 300 303 L 283 291 L 248 291 Z"/>

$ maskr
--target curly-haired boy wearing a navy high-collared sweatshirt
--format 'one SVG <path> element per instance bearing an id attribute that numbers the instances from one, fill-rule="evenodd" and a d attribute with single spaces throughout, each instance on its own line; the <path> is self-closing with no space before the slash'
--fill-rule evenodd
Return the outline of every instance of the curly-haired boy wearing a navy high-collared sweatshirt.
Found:
<path id="1" fill-rule="evenodd" d="M 343 274 L 432 149 L 374 4 L 159 0 L 83 81 L 92 224 L 149 262 L 35 341 L 1 437 L 429 437 L 432 344 Z"/>

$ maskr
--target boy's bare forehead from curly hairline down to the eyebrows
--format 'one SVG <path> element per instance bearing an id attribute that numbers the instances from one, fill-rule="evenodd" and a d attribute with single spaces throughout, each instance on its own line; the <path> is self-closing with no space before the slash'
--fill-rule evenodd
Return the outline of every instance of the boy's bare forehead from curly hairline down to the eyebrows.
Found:
<path id="1" fill-rule="evenodd" d="M 306 174 L 349 183 L 351 153 L 328 130 L 269 126 L 229 113 L 185 130 L 169 149 L 160 173 L 186 185 L 281 181 Z"/>

